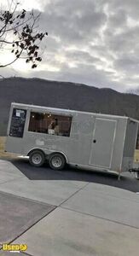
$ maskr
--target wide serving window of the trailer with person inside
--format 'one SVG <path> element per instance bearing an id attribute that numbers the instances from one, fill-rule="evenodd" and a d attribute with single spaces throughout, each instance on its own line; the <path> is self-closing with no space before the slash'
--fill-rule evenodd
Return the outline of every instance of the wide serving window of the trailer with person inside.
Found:
<path id="1" fill-rule="evenodd" d="M 69 137 L 71 123 L 72 117 L 69 116 L 32 112 L 28 131 Z"/>

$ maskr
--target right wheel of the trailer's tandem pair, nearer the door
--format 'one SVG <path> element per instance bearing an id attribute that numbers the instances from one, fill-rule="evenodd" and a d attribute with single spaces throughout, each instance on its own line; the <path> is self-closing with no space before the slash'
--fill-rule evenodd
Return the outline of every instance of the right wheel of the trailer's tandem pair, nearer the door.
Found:
<path id="1" fill-rule="evenodd" d="M 62 170 L 66 165 L 65 157 L 60 153 L 51 154 L 49 157 L 49 166 L 53 170 Z"/>

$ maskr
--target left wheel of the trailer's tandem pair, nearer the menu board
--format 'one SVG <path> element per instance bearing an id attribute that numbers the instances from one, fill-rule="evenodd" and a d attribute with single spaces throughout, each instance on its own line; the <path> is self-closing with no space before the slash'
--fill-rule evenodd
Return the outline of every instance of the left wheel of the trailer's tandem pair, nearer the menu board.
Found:
<path id="1" fill-rule="evenodd" d="M 32 153 L 29 154 L 29 162 L 32 166 L 43 166 L 44 161 L 45 155 L 41 150 L 33 150 Z"/>

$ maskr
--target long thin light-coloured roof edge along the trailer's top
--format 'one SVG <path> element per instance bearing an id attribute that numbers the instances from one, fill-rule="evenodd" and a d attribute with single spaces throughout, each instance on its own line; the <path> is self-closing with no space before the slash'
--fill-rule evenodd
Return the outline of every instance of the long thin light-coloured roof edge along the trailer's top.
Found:
<path id="1" fill-rule="evenodd" d="M 116 118 L 125 118 L 125 119 L 131 119 L 137 123 L 139 123 L 139 120 L 137 119 L 132 119 L 128 116 L 121 116 L 121 115 L 115 115 L 115 114 L 106 114 L 106 113 L 93 113 L 93 112 L 85 112 L 85 111 L 78 111 L 78 110 L 72 110 L 72 109 L 64 109 L 64 108 L 50 108 L 50 107 L 45 107 L 45 106 L 38 106 L 38 105 L 33 105 L 33 104 L 24 104 L 24 103 L 17 103 L 17 102 L 12 102 L 11 105 L 21 107 L 21 108 L 37 108 L 40 110 L 48 110 L 49 112 L 62 112 L 62 113 L 85 113 L 85 114 L 94 114 L 97 116 L 105 116 L 105 117 L 116 117 Z"/>

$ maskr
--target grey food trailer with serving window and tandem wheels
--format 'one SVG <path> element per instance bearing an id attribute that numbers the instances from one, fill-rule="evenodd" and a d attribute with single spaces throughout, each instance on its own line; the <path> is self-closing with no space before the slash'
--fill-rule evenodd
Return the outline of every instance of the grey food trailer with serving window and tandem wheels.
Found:
<path id="1" fill-rule="evenodd" d="M 48 160 L 55 170 L 120 174 L 133 166 L 137 132 L 138 121 L 126 116 L 12 103 L 5 151 L 29 156 L 33 166 Z"/>

